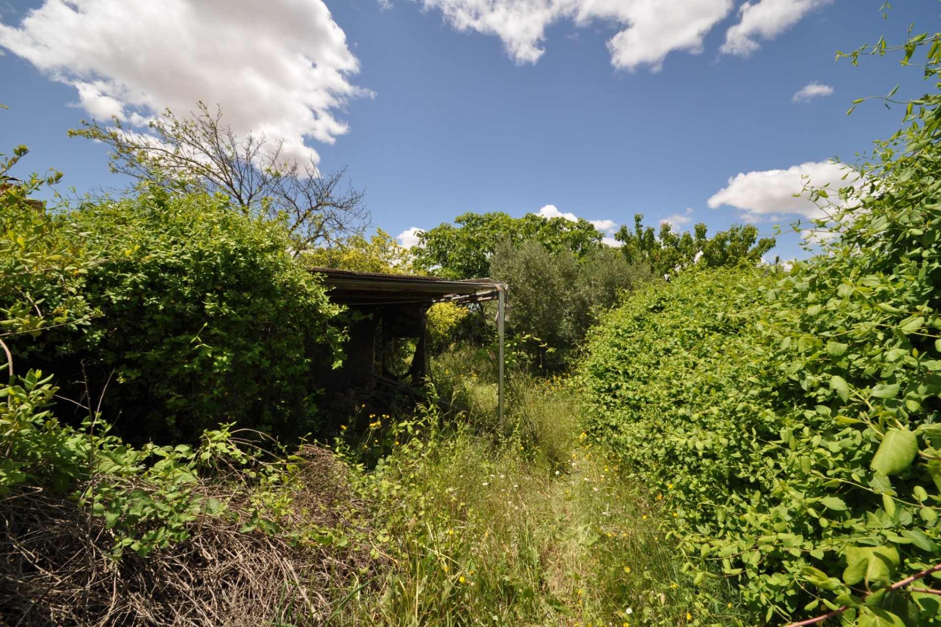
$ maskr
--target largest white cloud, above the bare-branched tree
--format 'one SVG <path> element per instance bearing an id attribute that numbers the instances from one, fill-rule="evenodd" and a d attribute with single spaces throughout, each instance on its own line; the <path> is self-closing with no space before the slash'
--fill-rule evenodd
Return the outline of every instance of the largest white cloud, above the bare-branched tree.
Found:
<path id="1" fill-rule="evenodd" d="M 287 158 L 316 160 L 305 139 L 333 143 L 347 131 L 335 112 L 370 95 L 349 82 L 359 62 L 323 0 L 45 0 L 0 24 L 0 47 L 75 87 L 95 118 L 219 104 Z"/>

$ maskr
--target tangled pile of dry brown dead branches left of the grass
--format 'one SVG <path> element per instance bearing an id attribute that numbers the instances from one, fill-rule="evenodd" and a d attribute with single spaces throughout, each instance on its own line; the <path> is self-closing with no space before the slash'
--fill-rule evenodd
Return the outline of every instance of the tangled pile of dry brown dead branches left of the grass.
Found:
<path id="1" fill-rule="evenodd" d="M 338 464 L 322 449 L 303 452 L 297 520 L 350 524 L 344 519 L 358 504 L 346 494 Z M 211 485 L 202 490 L 223 496 Z M 331 591 L 345 596 L 344 588 L 380 566 L 356 547 L 295 548 L 214 517 L 192 525 L 187 541 L 116 561 L 104 519 L 66 494 L 40 490 L 0 501 L 0 525 L 0 624 L 10 626 L 323 624 L 337 606 Z"/>

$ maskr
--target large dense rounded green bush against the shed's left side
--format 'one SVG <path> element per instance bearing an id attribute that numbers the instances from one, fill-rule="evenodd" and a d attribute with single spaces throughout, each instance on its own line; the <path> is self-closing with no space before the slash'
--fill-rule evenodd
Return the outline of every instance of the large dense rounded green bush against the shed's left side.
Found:
<path id="1" fill-rule="evenodd" d="M 286 437 L 316 426 L 311 361 L 335 358 L 339 309 L 284 229 L 156 187 L 68 218 L 98 259 L 83 292 L 100 314 L 43 352 L 73 398 L 86 385 L 104 394 L 119 431 L 143 439 L 220 422 Z"/>

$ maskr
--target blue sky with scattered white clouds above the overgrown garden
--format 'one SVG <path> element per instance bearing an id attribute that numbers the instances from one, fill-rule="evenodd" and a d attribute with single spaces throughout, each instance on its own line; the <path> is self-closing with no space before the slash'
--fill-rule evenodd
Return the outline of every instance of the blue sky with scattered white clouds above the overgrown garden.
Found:
<path id="1" fill-rule="evenodd" d="M 899 128 L 932 86 L 897 58 L 834 61 L 935 0 L 0 0 L 0 150 L 63 189 L 120 185 L 82 118 L 144 121 L 218 102 L 233 128 L 283 137 L 365 188 L 392 235 L 462 212 L 646 215 L 710 232 L 814 214 L 801 173 Z M 106 16 L 107 19 L 103 19 Z M 805 97 L 798 96 L 811 86 Z M 796 188 L 795 188 L 796 186 Z M 544 209 L 551 206 L 552 209 Z M 407 241 L 407 238 L 404 238 Z M 801 256 L 785 235 L 776 251 Z M 773 254 L 774 254 L 773 252 Z"/>

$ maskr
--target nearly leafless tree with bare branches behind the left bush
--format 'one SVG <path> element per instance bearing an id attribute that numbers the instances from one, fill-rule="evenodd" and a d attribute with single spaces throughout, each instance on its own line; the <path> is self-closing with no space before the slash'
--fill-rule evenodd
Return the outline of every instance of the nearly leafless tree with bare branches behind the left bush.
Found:
<path id="1" fill-rule="evenodd" d="M 282 155 L 284 142 L 251 132 L 239 136 L 199 102 L 189 118 L 167 109 L 149 125 L 151 133 L 82 122 L 70 136 L 88 137 L 111 147 L 111 171 L 140 181 L 158 182 L 178 193 L 221 193 L 246 213 L 283 219 L 295 239 L 295 252 L 332 246 L 370 225 L 362 191 L 346 178 L 346 168 L 324 175 L 308 160 Z"/>

